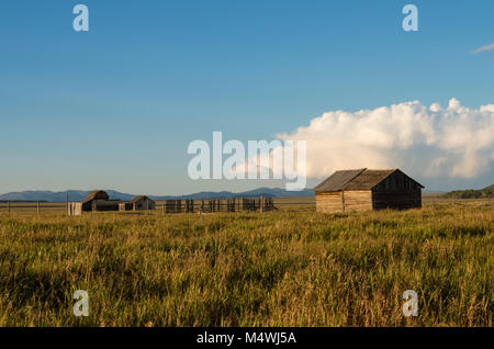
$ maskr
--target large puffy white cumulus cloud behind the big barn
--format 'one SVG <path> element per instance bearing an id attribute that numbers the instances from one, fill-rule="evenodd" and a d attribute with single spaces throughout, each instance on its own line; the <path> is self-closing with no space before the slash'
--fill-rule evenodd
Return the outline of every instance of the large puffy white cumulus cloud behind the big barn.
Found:
<path id="1" fill-rule="evenodd" d="M 307 142 L 306 171 L 402 168 L 413 176 L 474 178 L 494 162 L 494 104 L 469 109 L 412 101 L 358 112 L 332 111 L 283 140 Z"/>

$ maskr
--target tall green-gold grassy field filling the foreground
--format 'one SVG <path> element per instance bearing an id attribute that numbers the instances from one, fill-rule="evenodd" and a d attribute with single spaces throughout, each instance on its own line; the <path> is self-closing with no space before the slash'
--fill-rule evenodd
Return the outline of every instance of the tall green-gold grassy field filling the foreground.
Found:
<path id="1" fill-rule="evenodd" d="M 0 326 L 493 326 L 493 201 L 0 214 Z M 72 315 L 87 290 L 88 317 Z M 417 317 L 402 314 L 405 290 Z"/>

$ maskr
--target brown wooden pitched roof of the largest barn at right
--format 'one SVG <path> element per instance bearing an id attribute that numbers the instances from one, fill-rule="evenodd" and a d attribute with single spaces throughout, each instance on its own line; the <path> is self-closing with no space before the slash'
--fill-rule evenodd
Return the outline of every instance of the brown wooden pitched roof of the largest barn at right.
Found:
<path id="1" fill-rule="evenodd" d="M 358 170 L 336 171 L 328 179 L 314 188 L 314 191 L 371 190 L 395 171 L 400 170 L 369 170 L 363 168 Z M 424 188 L 420 183 L 416 183 Z"/>

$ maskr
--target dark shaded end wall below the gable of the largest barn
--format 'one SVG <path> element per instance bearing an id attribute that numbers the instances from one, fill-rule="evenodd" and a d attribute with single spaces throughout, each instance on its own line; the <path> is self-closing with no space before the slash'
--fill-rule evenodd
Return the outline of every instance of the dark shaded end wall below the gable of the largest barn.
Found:
<path id="1" fill-rule="evenodd" d="M 422 207 L 422 190 L 374 190 L 372 202 L 374 210 L 419 209 Z"/>

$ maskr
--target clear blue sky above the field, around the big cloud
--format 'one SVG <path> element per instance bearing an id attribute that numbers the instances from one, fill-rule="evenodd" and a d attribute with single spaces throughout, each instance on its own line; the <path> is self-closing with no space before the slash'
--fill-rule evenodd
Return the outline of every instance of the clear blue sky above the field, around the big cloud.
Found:
<path id="1" fill-rule="evenodd" d="M 77 3 L 88 33 L 72 30 Z M 402 30 L 406 3 L 419 32 Z M 187 147 L 213 131 L 270 140 L 328 111 L 493 103 L 494 50 L 471 53 L 494 43 L 493 16 L 486 0 L 3 2 L 0 193 L 273 185 L 192 181 Z M 487 162 L 473 177 L 418 180 L 487 185 Z"/>

